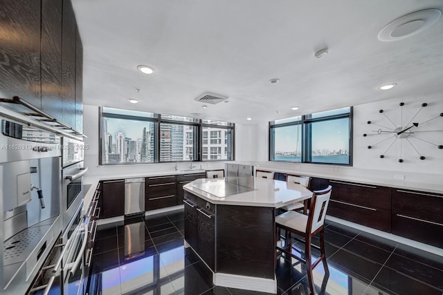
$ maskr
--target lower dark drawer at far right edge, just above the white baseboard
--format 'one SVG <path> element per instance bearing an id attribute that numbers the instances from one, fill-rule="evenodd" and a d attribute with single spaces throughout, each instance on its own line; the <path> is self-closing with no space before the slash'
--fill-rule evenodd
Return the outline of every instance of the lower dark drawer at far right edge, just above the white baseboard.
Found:
<path id="1" fill-rule="evenodd" d="M 443 248 L 443 224 L 392 213 L 392 234 Z"/>

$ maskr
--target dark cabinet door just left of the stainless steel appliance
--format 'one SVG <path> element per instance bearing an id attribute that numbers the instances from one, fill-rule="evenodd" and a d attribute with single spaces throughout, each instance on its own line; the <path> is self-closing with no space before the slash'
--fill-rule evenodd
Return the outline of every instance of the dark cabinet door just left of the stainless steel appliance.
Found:
<path id="1" fill-rule="evenodd" d="M 102 217 L 125 215 L 125 180 L 103 181 Z"/>

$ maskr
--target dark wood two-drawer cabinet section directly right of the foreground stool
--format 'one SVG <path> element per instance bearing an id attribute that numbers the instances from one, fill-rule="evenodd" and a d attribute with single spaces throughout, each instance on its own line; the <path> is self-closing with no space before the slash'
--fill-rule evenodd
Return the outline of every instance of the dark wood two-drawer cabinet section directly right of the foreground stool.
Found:
<path id="1" fill-rule="evenodd" d="M 336 180 L 330 180 L 329 184 L 332 185 L 327 208 L 329 216 L 381 231 L 391 231 L 390 188 Z"/>

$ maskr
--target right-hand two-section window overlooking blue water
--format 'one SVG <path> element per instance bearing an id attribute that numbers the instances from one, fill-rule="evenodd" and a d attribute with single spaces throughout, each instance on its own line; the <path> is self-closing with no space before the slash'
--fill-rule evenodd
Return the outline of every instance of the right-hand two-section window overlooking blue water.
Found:
<path id="1" fill-rule="evenodd" d="M 352 108 L 270 123 L 269 160 L 352 164 Z"/>

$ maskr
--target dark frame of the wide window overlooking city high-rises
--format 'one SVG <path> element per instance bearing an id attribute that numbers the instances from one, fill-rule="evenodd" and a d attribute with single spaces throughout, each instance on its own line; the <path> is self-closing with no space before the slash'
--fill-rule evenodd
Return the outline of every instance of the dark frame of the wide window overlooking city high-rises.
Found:
<path id="1" fill-rule="evenodd" d="M 98 164 L 100 166 L 108 166 L 108 165 L 133 165 L 133 164 L 159 164 L 159 163 L 169 163 L 169 162 L 189 162 L 189 160 L 170 160 L 170 161 L 161 161 L 161 124 L 176 124 L 176 125 L 183 125 L 183 126 L 193 126 L 195 127 L 195 131 L 193 132 L 192 140 L 192 161 L 195 162 L 217 162 L 217 161 L 235 161 L 235 124 L 226 122 L 226 125 L 219 125 L 219 124 L 208 124 L 204 123 L 204 120 L 198 119 L 195 120 L 195 122 L 188 122 L 188 121 L 179 121 L 179 120 L 170 120 L 169 118 L 162 118 L 162 114 L 157 113 L 150 113 L 153 114 L 153 117 L 139 117 L 134 115 L 124 115 L 124 114 L 116 114 L 116 113 L 106 113 L 104 111 L 104 108 L 99 106 L 98 108 L 98 117 L 99 117 L 99 136 L 98 136 Z M 118 109 L 118 108 L 113 108 Z M 122 111 L 128 111 L 125 109 L 121 109 Z M 177 116 L 181 117 L 181 116 Z M 144 122 L 152 122 L 154 123 L 154 161 L 152 162 L 117 162 L 117 163 L 105 163 L 103 162 L 103 120 L 105 118 L 115 118 L 120 120 L 138 120 L 138 121 L 144 121 Z M 217 121 L 215 121 L 217 122 Z M 216 129 L 226 129 L 231 132 L 232 136 L 232 142 L 230 146 L 231 150 L 231 159 L 219 159 L 219 160 L 211 160 L 210 159 L 210 153 L 208 153 L 208 159 L 203 160 L 203 129 L 204 127 L 208 128 L 216 128 Z M 210 147 L 210 133 L 208 133 L 208 147 Z M 223 144 L 223 141 L 222 143 Z M 186 140 L 183 141 L 183 149 L 187 149 L 188 144 L 186 144 Z M 226 149 L 227 151 L 228 149 Z M 208 149 L 208 152 L 210 149 Z M 227 152 L 226 152 L 227 155 Z"/>

